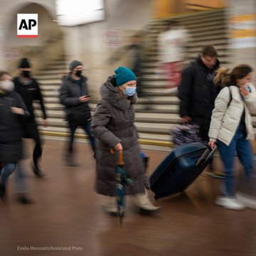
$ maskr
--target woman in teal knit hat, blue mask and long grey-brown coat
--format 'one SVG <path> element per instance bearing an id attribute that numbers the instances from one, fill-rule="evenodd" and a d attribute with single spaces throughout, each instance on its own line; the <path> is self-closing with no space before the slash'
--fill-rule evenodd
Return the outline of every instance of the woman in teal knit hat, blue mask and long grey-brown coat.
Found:
<path id="1" fill-rule="evenodd" d="M 92 118 L 92 132 L 97 138 L 96 192 L 105 196 L 107 213 L 117 213 L 115 162 L 122 151 L 125 171 L 134 181 L 126 193 L 134 196 L 143 213 L 156 213 L 159 207 L 152 205 L 145 192 L 145 168 L 134 126 L 137 79 L 129 68 L 119 67 L 114 73 L 100 87 L 102 99 Z"/>

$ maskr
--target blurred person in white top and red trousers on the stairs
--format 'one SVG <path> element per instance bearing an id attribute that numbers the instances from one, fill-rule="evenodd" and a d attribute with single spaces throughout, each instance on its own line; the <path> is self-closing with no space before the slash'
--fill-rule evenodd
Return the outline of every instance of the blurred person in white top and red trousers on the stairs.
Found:
<path id="1" fill-rule="evenodd" d="M 186 28 L 178 21 L 169 21 L 168 26 L 159 34 L 159 63 L 169 80 L 169 88 L 181 83 L 181 71 L 189 36 Z"/>

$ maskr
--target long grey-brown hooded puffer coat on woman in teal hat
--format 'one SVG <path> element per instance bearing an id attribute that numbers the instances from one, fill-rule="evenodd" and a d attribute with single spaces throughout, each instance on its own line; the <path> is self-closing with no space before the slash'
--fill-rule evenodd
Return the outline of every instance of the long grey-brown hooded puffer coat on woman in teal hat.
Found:
<path id="1" fill-rule="evenodd" d="M 129 100 L 124 99 L 114 87 L 113 80 L 113 77 L 108 78 L 100 87 L 102 99 L 92 117 L 92 133 L 97 138 L 95 190 L 105 196 L 115 196 L 118 152 L 110 154 L 110 149 L 120 142 L 123 147 L 124 169 L 134 180 L 134 186 L 127 186 L 126 193 L 143 193 L 145 169 L 134 126 L 133 105 L 137 102 L 137 95 L 129 97 Z"/>

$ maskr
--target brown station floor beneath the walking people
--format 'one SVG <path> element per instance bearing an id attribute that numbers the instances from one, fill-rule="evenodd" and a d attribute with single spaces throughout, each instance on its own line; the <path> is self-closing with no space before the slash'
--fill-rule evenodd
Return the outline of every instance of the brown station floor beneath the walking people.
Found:
<path id="1" fill-rule="evenodd" d="M 214 204 L 217 178 L 206 171 L 186 193 L 154 204 L 158 215 L 137 213 L 127 197 L 123 225 L 101 208 L 94 191 L 95 160 L 88 144 L 75 144 L 78 167 L 63 164 L 65 142 L 46 140 L 36 178 L 26 160 L 26 181 L 34 203 L 16 201 L 14 177 L 0 201 L 0 255 L 85 256 L 255 256 L 256 211 L 227 210 Z M 150 174 L 168 152 L 144 150 Z M 31 146 L 28 149 L 31 154 Z M 240 166 L 236 164 L 239 172 Z M 218 158 L 215 169 L 222 169 Z"/>

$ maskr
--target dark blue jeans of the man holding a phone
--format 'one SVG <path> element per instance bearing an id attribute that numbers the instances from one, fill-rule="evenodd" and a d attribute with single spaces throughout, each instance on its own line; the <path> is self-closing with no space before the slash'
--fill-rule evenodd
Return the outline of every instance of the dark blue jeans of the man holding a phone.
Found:
<path id="1" fill-rule="evenodd" d="M 95 137 L 92 135 L 92 132 L 91 132 L 91 122 L 86 122 L 85 124 L 83 125 L 78 125 L 78 124 L 69 124 L 69 128 L 70 128 L 70 142 L 69 142 L 69 146 L 68 146 L 68 154 L 73 154 L 73 142 L 74 142 L 74 139 L 75 139 L 75 130 L 78 129 L 78 127 L 82 127 L 82 129 L 85 130 L 85 132 L 87 133 L 88 135 L 88 138 L 90 140 L 90 144 L 92 146 L 92 150 L 94 152 L 95 151 Z"/>

